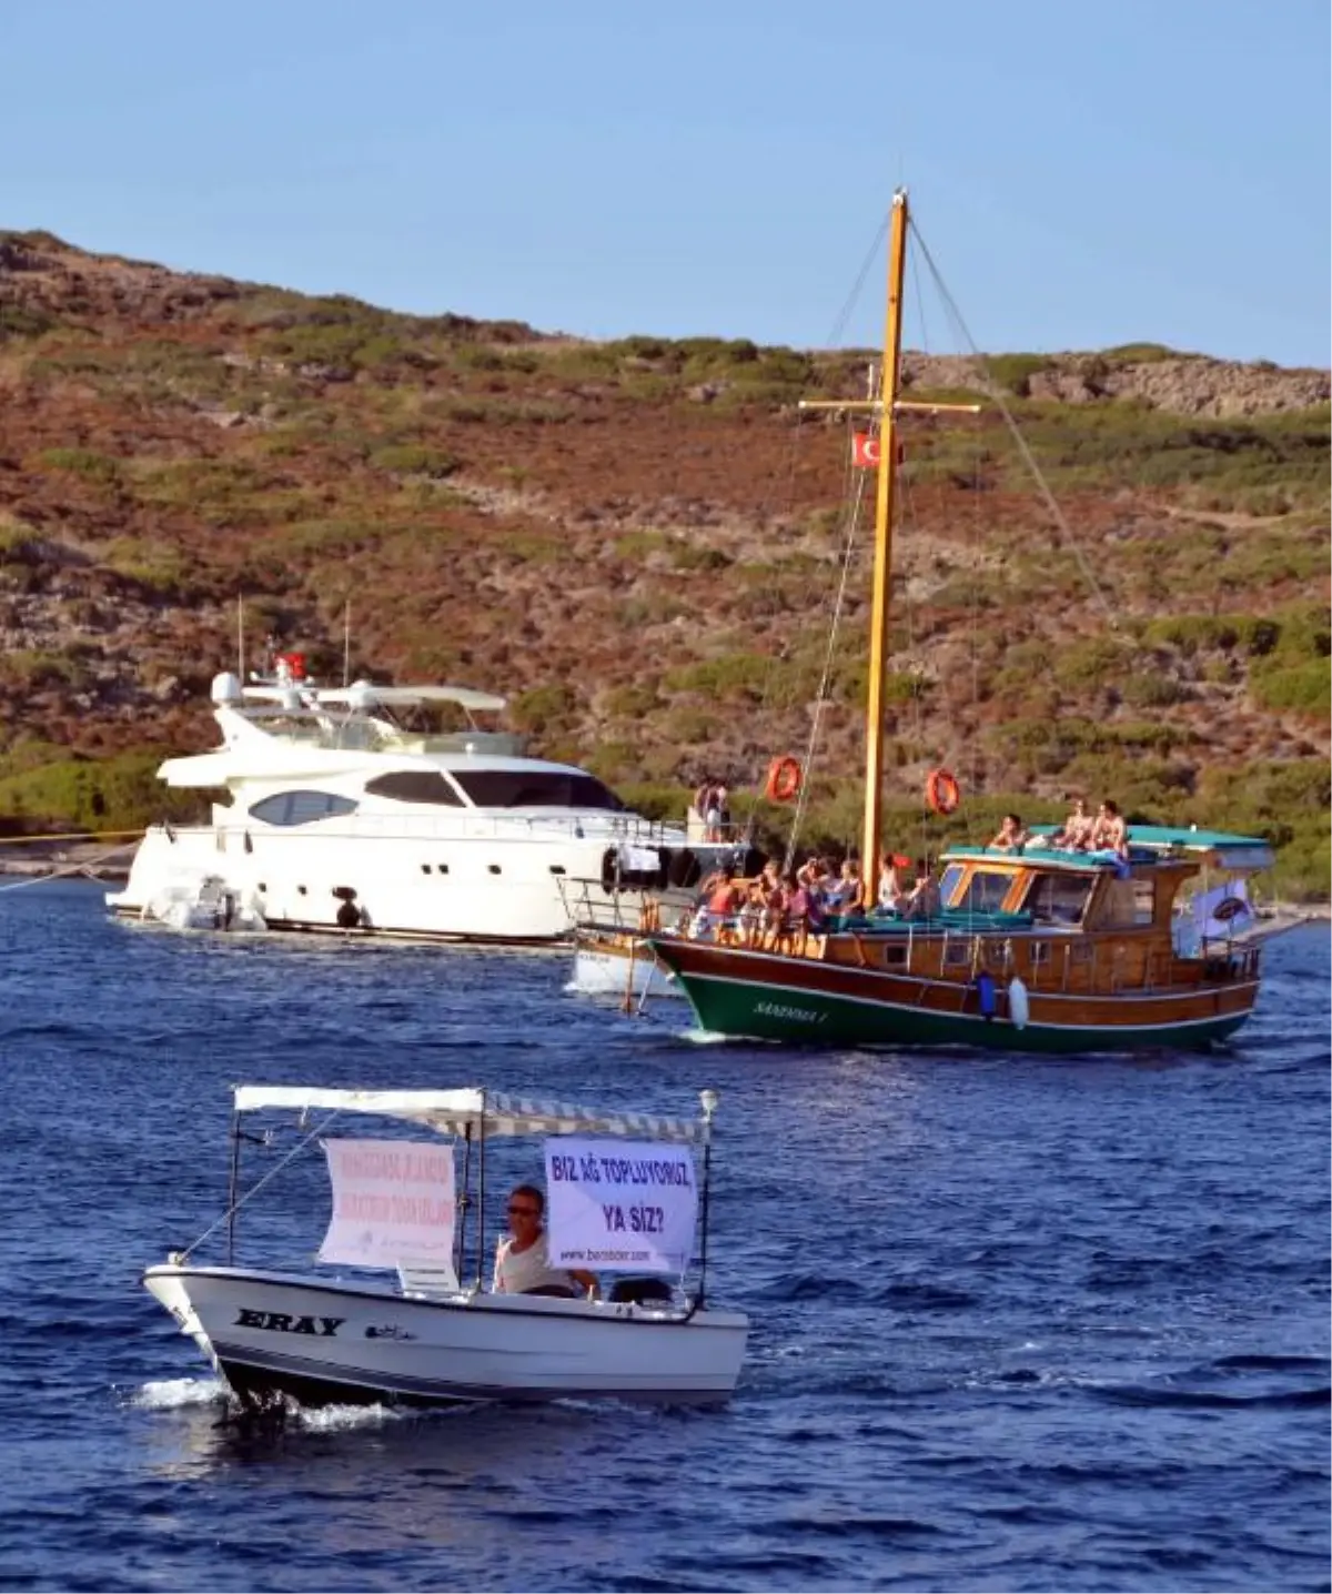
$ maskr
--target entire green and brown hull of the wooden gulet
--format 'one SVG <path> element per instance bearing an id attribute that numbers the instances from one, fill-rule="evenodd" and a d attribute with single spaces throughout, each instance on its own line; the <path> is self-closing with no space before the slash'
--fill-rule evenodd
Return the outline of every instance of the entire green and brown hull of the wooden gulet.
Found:
<path id="1" fill-rule="evenodd" d="M 699 1025 L 715 1035 L 800 1046 L 974 1046 L 1077 1055 L 1208 1047 L 1252 1012 L 1257 979 L 1187 991 L 1093 996 L 1032 990 L 1018 1025 L 999 987 L 994 1011 L 961 980 L 884 974 L 699 942 L 660 939 Z"/>

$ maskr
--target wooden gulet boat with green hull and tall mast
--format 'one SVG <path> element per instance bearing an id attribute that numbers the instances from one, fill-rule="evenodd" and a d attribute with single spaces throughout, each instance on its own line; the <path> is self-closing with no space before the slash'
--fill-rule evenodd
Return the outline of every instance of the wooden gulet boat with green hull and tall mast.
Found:
<path id="1" fill-rule="evenodd" d="M 880 856 L 883 706 L 892 566 L 907 194 L 894 196 L 875 513 L 862 859 Z M 846 405 L 844 408 L 854 408 Z M 927 406 L 945 408 L 945 406 Z M 1271 866 L 1265 842 L 1197 829 L 1141 827 L 1126 854 L 1074 853 L 1037 835 L 1020 853 L 943 854 L 930 918 L 832 920 L 755 944 L 650 939 L 704 1030 L 797 1044 L 981 1046 L 1106 1052 L 1208 1046 L 1232 1035 L 1259 993 L 1257 945 L 1205 939 L 1181 952 L 1181 888 L 1216 869 Z"/>

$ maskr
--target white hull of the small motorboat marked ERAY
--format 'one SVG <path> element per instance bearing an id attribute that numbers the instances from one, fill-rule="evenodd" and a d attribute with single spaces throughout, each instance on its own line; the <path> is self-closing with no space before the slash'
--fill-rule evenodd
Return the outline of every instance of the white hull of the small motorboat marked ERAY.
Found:
<path id="1" fill-rule="evenodd" d="M 150 1267 L 145 1288 L 245 1404 L 613 1398 L 720 1404 L 739 1377 L 738 1312 L 459 1294 L 241 1267 Z"/>

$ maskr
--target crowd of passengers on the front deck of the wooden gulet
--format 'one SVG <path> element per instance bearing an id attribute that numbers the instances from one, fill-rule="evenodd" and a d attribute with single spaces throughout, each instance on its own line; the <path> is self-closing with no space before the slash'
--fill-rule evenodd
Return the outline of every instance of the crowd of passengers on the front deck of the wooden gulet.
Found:
<path id="1" fill-rule="evenodd" d="M 733 880 L 719 869 L 703 881 L 687 932 L 695 940 L 771 948 L 811 931 L 817 934 L 833 918 L 865 913 L 930 918 L 940 912 L 938 883 L 924 858 L 915 864 L 915 880 L 905 883 L 900 870 L 910 867 L 910 859 L 883 854 L 876 893 L 854 858 L 836 864 L 832 858 L 809 856 L 793 874 L 784 874 L 770 859 L 754 880 Z"/>

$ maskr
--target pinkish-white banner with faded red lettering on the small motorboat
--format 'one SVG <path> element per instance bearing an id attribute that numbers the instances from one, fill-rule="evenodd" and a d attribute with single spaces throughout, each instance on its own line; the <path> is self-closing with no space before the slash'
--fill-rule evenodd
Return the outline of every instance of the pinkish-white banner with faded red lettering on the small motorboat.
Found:
<path id="1" fill-rule="evenodd" d="M 451 1261 L 452 1146 L 417 1140 L 325 1140 L 333 1218 L 322 1262 L 395 1267 Z"/>

